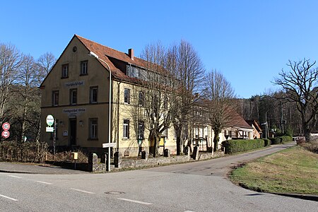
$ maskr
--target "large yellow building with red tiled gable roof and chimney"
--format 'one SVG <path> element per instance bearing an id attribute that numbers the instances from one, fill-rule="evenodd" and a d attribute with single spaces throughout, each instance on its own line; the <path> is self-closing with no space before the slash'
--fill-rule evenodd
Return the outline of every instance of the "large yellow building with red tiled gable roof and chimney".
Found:
<path id="1" fill-rule="evenodd" d="M 53 145 L 52 133 L 45 127 L 47 115 L 52 114 L 57 147 L 105 152 L 102 143 L 108 143 L 110 122 L 110 142 L 116 143 L 116 151 L 129 156 L 149 151 L 149 133 L 143 121 L 132 115 L 142 110 L 133 96 L 140 97 L 136 73 L 146 71 L 144 67 L 146 61 L 134 57 L 133 49 L 119 52 L 74 35 L 40 86 L 41 140 Z M 175 153 L 173 128 L 164 137 L 160 152 L 169 148 Z"/>

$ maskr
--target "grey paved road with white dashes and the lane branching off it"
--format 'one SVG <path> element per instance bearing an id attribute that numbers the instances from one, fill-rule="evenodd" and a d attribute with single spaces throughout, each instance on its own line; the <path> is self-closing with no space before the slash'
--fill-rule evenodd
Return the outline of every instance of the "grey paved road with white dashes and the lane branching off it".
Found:
<path id="1" fill-rule="evenodd" d="M 0 211 L 317 211 L 317 201 L 252 192 L 225 179 L 232 163 L 253 157 L 98 175 L 0 173 Z"/>

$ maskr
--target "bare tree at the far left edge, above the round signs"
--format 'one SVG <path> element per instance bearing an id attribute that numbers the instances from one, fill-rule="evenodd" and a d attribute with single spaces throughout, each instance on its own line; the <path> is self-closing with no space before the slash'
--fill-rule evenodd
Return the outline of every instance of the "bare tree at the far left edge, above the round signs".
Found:
<path id="1" fill-rule="evenodd" d="M 10 117 L 8 100 L 23 59 L 23 54 L 15 46 L 0 44 L 0 124 Z"/>

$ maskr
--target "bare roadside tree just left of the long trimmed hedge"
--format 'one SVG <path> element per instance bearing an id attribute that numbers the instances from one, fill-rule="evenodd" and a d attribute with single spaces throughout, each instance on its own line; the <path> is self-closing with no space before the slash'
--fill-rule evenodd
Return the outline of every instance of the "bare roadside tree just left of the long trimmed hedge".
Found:
<path id="1" fill-rule="evenodd" d="M 208 117 L 214 131 L 214 148 L 218 150 L 219 134 L 222 129 L 230 124 L 236 115 L 233 107 L 234 90 L 222 73 L 211 71 L 206 76 L 206 88 L 204 90 Z"/>

